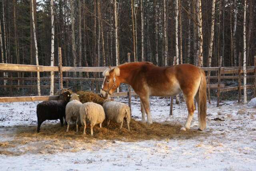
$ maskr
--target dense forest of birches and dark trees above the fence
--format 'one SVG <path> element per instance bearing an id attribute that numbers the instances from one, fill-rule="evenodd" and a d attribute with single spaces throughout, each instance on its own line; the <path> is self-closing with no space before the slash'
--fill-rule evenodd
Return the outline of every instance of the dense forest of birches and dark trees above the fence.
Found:
<path id="1" fill-rule="evenodd" d="M 61 47 L 63 66 L 120 65 L 127 53 L 131 61 L 168 66 L 175 57 L 204 67 L 218 66 L 220 56 L 223 66 L 238 66 L 242 53 L 254 65 L 255 0 L 1 0 L 1 7 L 2 63 L 56 65 Z"/>

